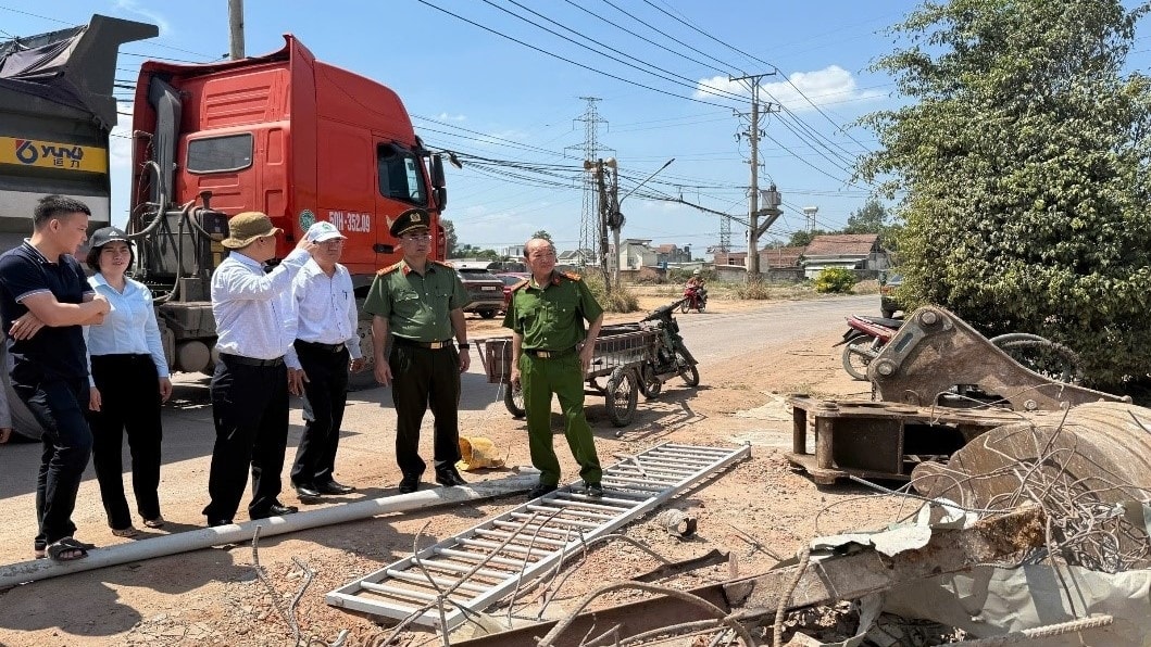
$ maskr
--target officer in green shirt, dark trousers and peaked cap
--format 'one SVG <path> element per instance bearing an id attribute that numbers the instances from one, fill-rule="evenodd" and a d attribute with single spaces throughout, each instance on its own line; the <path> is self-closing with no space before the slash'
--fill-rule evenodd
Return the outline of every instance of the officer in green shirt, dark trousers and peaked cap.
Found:
<path id="1" fill-rule="evenodd" d="M 380 270 L 364 311 L 372 315 L 375 379 L 391 386 L 396 407 L 396 462 L 399 493 L 416 492 L 427 464 L 420 459 L 420 423 L 428 407 L 435 416 L 435 479 L 445 487 L 467 485 L 459 460 L 459 373 L 467 370 L 467 291 L 450 265 L 428 260 L 430 219 L 409 209 L 391 223 L 404 259 Z M 391 353 L 384 359 L 388 336 Z M 452 344 L 459 342 L 459 353 Z"/>

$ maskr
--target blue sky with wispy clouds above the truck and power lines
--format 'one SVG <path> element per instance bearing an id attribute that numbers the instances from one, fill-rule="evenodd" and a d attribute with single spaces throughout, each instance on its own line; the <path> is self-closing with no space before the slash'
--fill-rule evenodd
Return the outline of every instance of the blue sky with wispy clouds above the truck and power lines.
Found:
<path id="1" fill-rule="evenodd" d="M 779 70 L 763 79 L 762 95 L 784 107 L 761 122 L 761 188 L 775 182 L 784 208 L 769 238 L 801 229 L 807 206 L 818 207 L 817 226 L 838 229 L 870 194 L 867 185 L 851 182 L 849 169 L 876 146 L 869 132 L 848 126 L 900 102 L 891 79 L 867 68 L 892 49 L 884 30 L 915 6 L 906 0 L 246 0 L 245 39 L 246 53 L 254 55 L 280 48 L 282 33 L 295 33 L 318 59 L 398 92 L 425 144 L 466 155 L 464 170 L 448 167 L 445 217 L 462 244 L 481 247 L 518 245 L 540 229 L 562 249 L 577 246 L 585 146 L 578 120 L 588 105 L 580 98 L 595 97 L 605 121 L 599 143 L 603 156 L 618 160 L 620 195 L 676 160 L 623 203 L 623 236 L 692 245 L 701 256 L 719 242 L 719 218 L 643 195 L 681 197 L 746 217 L 749 147 L 735 134 L 747 122 L 735 111 L 748 113 L 749 100 L 729 75 Z M 145 57 L 206 62 L 228 51 L 226 0 L 0 0 L 0 38 L 86 23 L 93 13 L 160 25 L 159 38 L 121 48 L 117 78 L 129 83 Z M 128 160 L 120 153 L 113 171 L 117 223 L 124 219 L 128 188 Z M 501 163 L 467 163 L 473 156 Z M 546 167 L 554 175 L 502 162 Z M 731 230 L 732 248 L 746 249 L 744 228 L 732 223 Z"/>

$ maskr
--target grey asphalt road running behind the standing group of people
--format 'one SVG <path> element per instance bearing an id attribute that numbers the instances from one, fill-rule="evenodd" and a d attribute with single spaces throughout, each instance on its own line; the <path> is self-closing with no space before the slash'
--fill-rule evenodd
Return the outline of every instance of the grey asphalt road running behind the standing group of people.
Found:
<path id="1" fill-rule="evenodd" d="M 727 314 L 677 314 L 685 341 L 706 369 L 718 363 L 773 344 L 844 330 L 844 317 L 853 313 L 878 314 L 876 295 L 841 296 L 809 301 L 771 302 L 761 308 Z M 472 355 L 471 370 L 464 376 L 460 399 L 460 429 L 466 433 L 482 430 L 494 417 L 506 418 L 501 385 L 488 384 L 478 356 Z M 178 376 L 171 401 L 163 408 L 163 484 L 161 494 L 167 501 L 197 501 L 190 518 L 184 523 L 201 523 L 200 501 L 207 484 L 208 461 L 215 432 L 212 426 L 212 407 L 206 377 Z M 303 432 L 299 400 L 292 401 L 291 429 L 288 438 L 284 479 Z M 430 423 L 430 415 L 425 425 Z M 383 438 L 395 429 L 391 392 L 369 388 L 355 392 L 349 399 L 341 440 L 341 462 L 387 465 L 394 469 L 392 447 Z M 425 434 L 430 438 L 430 433 Z M 130 464 L 124 448 L 125 469 Z M 8 516 L 10 531 L 28 538 L 36 534 L 33 493 L 39 465 L 38 442 L 0 446 L 0 506 Z M 175 515 L 165 516 L 169 519 Z M 195 517 L 195 518 L 191 518 Z M 85 475 L 77 506 L 76 522 L 84 526 L 104 525 L 96 475 L 92 468 Z M 25 542 L 20 549 L 26 548 Z M 14 550 L 16 548 L 14 547 Z M 15 561 L 17 554 L 0 548 L 0 563 Z M 24 550 L 18 553 L 23 556 Z"/>

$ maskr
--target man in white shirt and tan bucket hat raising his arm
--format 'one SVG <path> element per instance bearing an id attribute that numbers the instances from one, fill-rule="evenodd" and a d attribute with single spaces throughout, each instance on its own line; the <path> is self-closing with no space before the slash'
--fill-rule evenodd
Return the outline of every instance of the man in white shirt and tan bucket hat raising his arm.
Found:
<path id="1" fill-rule="evenodd" d="M 220 362 L 212 376 L 212 417 L 216 440 L 208 476 L 208 525 L 233 523 L 252 469 L 250 518 L 296 511 L 280 502 L 280 472 L 288 446 L 288 368 L 284 355 L 296 339 L 291 285 L 315 245 L 302 237 L 270 272 L 276 255 L 268 216 L 244 211 L 228 221 L 231 251 L 212 274 L 212 314 Z"/>

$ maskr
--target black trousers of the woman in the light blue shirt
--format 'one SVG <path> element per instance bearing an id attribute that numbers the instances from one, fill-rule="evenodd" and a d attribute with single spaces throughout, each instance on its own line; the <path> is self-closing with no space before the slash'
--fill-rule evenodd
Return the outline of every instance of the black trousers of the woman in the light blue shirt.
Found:
<path id="1" fill-rule="evenodd" d="M 108 526 L 132 525 L 124 498 L 123 439 L 132 456 L 136 511 L 160 516 L 160 382 L 151 355 L 92 355 L 92 380 L 100 391 L 100 410 L 87 411 L 92 428 L 92 464 Z"/>

